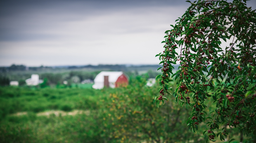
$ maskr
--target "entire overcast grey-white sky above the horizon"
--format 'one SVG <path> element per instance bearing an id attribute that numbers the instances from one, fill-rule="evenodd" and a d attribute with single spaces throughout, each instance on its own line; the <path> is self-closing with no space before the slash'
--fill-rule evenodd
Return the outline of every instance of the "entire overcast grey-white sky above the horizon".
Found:
<path id="1" fill-rule="evenodd" d="M 255 7 L 255 1 L 249 3 Z M 158 64 L 185 0 L 0 0 L 0 66 Z"/>

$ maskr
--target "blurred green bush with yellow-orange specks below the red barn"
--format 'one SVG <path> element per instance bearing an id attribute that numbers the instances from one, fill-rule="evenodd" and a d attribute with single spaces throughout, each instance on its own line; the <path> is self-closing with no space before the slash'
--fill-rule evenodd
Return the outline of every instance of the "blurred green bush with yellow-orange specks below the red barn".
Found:
<path id="1" fill-rule="evenodd" d="M 161 110 L 154 108 L 149 95 L 157 95 L 158 87 L 145 84 L 145 78 L 137 76 L 128 87 L 116 89 L 109 99 L 100 101 L 104 105 L 100 107 L 104 110 L 104 134 L 111 139 L 109 142 L 185 143 L 206 139 L 182 126 L 187 122 L 184 116 L 189 117 L 190 113 L 180 109 L 178 103 L 166 101 Z"/>

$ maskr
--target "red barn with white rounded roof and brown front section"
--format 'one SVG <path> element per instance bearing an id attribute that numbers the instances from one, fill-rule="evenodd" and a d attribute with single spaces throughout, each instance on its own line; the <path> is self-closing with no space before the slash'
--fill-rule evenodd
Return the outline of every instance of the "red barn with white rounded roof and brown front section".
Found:
<path id="1" fill-rule="evenodd" d="M 92 88 L 119 87 L 128 85 L 128 76 L 123 72 L 102 71 L 94 79 Z"/>

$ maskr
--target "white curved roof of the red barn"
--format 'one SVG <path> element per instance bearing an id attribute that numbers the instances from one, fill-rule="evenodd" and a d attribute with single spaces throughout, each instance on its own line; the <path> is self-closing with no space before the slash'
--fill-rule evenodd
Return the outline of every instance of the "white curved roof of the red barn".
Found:
<path id="1" fill-rule="evenodd" d="M 102 71 L 94 79 L 94 89 L 102 89 L 104 87 L 104 76 L 109 76 L 109 87 L 115 88 L 115 82 L 121 75 L 128 76 L 123 72 L 113 72 L 113 71 Z"/>

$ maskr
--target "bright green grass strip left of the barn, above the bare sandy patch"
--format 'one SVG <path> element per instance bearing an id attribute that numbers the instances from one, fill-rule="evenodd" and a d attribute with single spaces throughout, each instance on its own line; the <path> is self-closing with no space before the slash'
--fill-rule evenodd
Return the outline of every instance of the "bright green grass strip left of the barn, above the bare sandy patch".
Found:
<path id="1" fill-rule="evenodd" d="M 111 91 L 111 89 L 108 89 Z M 0 119 L 17 112 L 42 112 L 45 110 L 71 111 L 97 109 L 97 98 L 104 90 L 95 89 L 33 89 L 0 87 Z"/>

